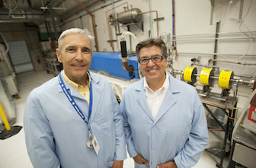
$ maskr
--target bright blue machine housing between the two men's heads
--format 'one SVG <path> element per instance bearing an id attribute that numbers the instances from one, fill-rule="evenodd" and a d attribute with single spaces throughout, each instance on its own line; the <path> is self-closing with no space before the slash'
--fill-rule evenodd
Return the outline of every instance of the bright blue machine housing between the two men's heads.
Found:
<path id="1" fill-rule="evenodd" d="M 128 57 L 128 65 L 133 65 L 134 73 L 123 69 L 121 52 L 93 52 L 91 59 L 92 71 L 105 71 L 109 75 L 123 79 L 139 79 L 138 62 L 136 56 Z"/>

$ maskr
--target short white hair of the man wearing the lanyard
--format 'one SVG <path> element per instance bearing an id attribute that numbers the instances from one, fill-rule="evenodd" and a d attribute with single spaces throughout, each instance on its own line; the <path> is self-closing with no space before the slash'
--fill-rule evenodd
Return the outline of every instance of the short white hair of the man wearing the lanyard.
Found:
<path id="1" fill-rule="evenodd" d="M 81 34 L 84 34 L 85 36 L 88 37 L 88 40 L 90 40 L 90 43 L 91 43 L 91 40 L 94 39 L 94 36 L 91 36 L 91 33 L 90 33 L 87 29 L 71 28 L 71 29 L 65 30 L 65 31 L 63 31 L 63 32 L 60 34 L 59 39 L 58 39 L 58 49 L 59 49 L 59 52 L 61 52 L 61 49 L 62 49 L 62 40 L 64 39 L 64 37 L 65 37 L 66 35 L 69 35 L 69 34 L 72 34 L 72 33 L 81 33 Z"/>

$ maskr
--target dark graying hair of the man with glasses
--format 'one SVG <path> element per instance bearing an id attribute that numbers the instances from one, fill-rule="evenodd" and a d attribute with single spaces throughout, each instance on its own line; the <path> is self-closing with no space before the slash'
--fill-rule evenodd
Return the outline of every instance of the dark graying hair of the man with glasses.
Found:
<path id="1" fill-rule="evenodd" d="M 139 59 L 139 56 L 140 56 L 139 55 L 140 49 L 151 47 L 151 46 L 158 46 L 161 49 L 162 55 L 165 55 L 165 58 L 168 56 L 165 42 L 160 38 L 150 38 L 137 44 L 136 46 L 137 59 Z"/>

